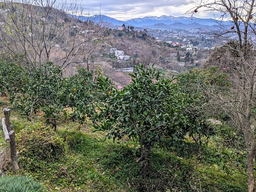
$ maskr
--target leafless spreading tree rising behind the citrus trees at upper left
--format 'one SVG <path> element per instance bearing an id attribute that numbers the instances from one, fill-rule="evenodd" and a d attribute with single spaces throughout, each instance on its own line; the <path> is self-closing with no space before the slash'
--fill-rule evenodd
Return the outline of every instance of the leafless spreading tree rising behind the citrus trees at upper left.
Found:
<path id="1" fill-rule="evenodd" d="M 2 56 L 27 67 L 52 61 L 63 69 L 84 62 L 104 27 L 87 19 L 76 1 L 3 0 L 0 15 Z"/>

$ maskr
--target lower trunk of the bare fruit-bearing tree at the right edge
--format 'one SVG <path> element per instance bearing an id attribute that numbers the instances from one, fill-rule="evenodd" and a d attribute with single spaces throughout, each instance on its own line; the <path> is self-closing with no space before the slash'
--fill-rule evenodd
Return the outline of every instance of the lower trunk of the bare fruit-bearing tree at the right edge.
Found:
<path id="1" fill-rule="evenodd" d="M 246 120 L 244 122 L 244 140 L 246 144 L 246 161 L 247 161 L 247 172 L 248 172 L 248 192 L 256 192 L 255 190 L 255 177 L 254 177 L 254 163 L 253 158 L 255 155 L 255 138 L 253 134 L 253 129 L 250 126 L 250 121 Z"/>

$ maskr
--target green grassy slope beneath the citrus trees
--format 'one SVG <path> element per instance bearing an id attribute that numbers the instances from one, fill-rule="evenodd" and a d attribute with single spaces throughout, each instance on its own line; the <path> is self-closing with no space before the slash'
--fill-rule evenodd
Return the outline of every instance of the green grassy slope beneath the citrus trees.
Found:
<path id="1" fill-rule="evenodd" d="M 8 101 L 2 98 L 0 110 L 7 106 Z M 0 116 L 3 117 L 3 113 Z M 30 175 L 47 191 L 188 192 L 199 191 L 200 183 L 203 192 L 247 190 L 247 178 L 236 173 L 240 168 L 232 167 L 235 162 L 218 155 L 214 142 L 204 146 L 204 158 L 199 160 L 195 143 L 187 140 L 175 145 L 169 139 L 163 140 L 154 147 L 150 155 L 151 166 L 145 173 L 134 160 L 138 151 L 131 140 L 113 143 L 105 140 L 102 133 L 92 133 L 92 129 L 76 123 L 63 124 L 54 133 L 41 123 L 39 117 L 29 122 L 14 109 L 11 120 L 17 132 L 20 171 L 13 173 L 9 168 L 6 174 Z M 0 133 L 1 151 L 8 149 L 8 145 L 4 143 L 3 132 Z M 49 141 L 49 145 L 41 138 Z M 55 152 L 57 148 L 51 148 L 51 142 L 61 143 L 64 151 Z M 49 154 L 44 151 L 47 149 Z M 232 153 L 226 151 L 227 154 L 229 152 Z"/>

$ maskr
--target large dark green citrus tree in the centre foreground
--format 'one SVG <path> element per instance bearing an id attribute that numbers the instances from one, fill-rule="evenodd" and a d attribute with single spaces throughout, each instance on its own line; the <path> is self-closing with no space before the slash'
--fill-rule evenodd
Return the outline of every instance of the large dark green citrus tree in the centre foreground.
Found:
<path id="1" fill-rule="evenodd" d="M 104 131 L 108 138 L 120 139 L 127 135 L 139 143 L 140 157 L 137 163 L 150 165 L 148 154 L 154 144 L 163 137 L 177 141 L 186 135 L 186 127 L 191 126 L 189 109 L 196 98 L 180 93 L 172 78 L 164 78 L 153 66 L 136 68 L 130 74 L 132 82 L 116 88 L 109 77 L 98 77 L 102 103 L 94 117 L 94 127 Z"/>

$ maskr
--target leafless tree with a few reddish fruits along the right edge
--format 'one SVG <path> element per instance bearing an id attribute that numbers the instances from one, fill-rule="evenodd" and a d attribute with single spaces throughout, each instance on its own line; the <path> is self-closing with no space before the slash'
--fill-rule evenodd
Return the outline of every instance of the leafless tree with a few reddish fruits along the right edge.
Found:
<path id="1" fill-rule="evenodd" d="M 227 92 L 212 93 L 212 111 L 224 110 L 230 115 L 233 124 L 243 132 L 247 152 L 248 191 L 255 192 L 255 175 L 253 159 L 256 153 L 255 132 L 252 126 L 252 108 L 255 106 L 256 88 L 256 52 L 253 49 L 256 38 L 256 3 L 255 0 L 192 0 L 195 7 L 187 13 L 210 11 L 221 15 L 218 19 L 221 30 L 209 32 L 230 38 L 222 46 L 211 63 L 223 67 L 231 75 L 233 88 Z M 230 26 L 221 24 L 229 19 Z M 209 64 L 211 64 L 209 63 Z"/>

